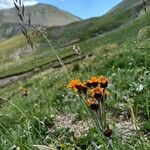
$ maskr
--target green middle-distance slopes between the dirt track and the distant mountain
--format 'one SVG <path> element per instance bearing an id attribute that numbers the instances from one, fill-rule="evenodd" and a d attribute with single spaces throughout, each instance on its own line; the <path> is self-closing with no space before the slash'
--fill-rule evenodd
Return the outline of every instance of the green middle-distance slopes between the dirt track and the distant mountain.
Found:
<path id="1" fill-rule="evenodd" d="M 48 38 L 52 41 L 59 56 L 66 57 L 72 54 L 72 44 L 75 42 L 79 43 L 83 52 L 90 52 L 103 44 L 122 44 L 128 38 L 135 37 L 141 28 L 148 25 L 147 22 L 150 22 L 150 18 L 146 22 L 145 14 L 142 15 L 143 13 L 141 13 L 142 6 L 137 11 L 138 16 L 134 16 L 132 12 L 134 7 L 122 9 L 118 13 L 118 9 L 123 6 L 121 4 L 112 13 L 102 17 L 83 20 L 63 27 L 48 28 Z M 18 44 L 11 45 L 14 41 L 18 41 Z M 0 44 L 0 63 L 3 66 L 2 68 L 0 67 L 1 76 L 25 72 L 50 62 L 51 57 L 54 58 L 43 38 L 38 37 L 38 40 L 34 41 L 35 50 L 30 52 L 25 42 L 25 39 L 20 36 Z M 68 47 L 68 45 L 70 46 Z M 62 51 L 60 52 L 59 49 L 62 49 Z"/>

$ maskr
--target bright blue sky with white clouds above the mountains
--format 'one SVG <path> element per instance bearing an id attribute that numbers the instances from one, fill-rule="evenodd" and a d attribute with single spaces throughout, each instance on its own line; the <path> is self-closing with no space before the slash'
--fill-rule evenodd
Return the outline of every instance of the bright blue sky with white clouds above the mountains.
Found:
<path id="1" fill-rule="evenodd" d="M 83 19 L 101 16 L 122 0 L 23 0 L 24 4 L 46 3 Z M 13 0 L 0 0 L 0 9 L 13 7 Z"/>

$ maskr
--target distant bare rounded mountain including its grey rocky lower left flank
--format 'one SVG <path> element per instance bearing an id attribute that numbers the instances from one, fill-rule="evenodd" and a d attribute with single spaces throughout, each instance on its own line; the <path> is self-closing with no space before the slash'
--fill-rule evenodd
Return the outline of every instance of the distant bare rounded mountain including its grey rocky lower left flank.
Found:
<path id="1" fill-rule="evenodd" d="M 81 20 L 57 7 L 37 4 L 25 8 L 25 23 L 31 14 L 31 24 L 40 26 L 62 26 Z M 15 35 L 18 29 L 18 16 L 15 8 L 0 10 L 0 38 Z"/>

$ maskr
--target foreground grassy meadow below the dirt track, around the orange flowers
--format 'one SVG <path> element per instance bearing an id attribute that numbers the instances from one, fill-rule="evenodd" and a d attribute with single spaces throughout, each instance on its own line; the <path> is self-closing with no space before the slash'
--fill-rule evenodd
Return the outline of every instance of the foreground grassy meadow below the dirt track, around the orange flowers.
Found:
<path id="1" fill-rule="evenodd" d="M 109 77 L 111 95 L 107 99 L 106 108 L 109 121 L 113 124 L 113 146 L 117 150 L 132 150 L 132 146 L 140 150 L 141 147 L 138 135 L 132 129 L 129 130 L 131 135 L 127 135 L 126 139 L 125 129 L 118 127 L 119 123 L 122 126 L 126 123 L 124 119 L 118 118 L 124 118 L 126 117 L 124 114 L 130 112 L 130 105 L 125 97 L 130 98 L 134 113 L 138 116 L 137 124 L 141 129 L 140 132 L 149 131 L 149 127 L 145 127 L 143 121 L 150 119 L 149 42 L 149 39 L 139 42 L 133 38 L 121 46 L 115 42 L 102 47 L 98 46 L 92 51 L 94 58 L 79 61 L 67 67 L 72 78 L 85 80 L 90 76 L 101 74 Z M 84 67 L 82 63 L 86 66 Z M 66 150 L 72 150 L 74 147 L 92 150 L 91 138 L 97 145 L 101 144 L 95 128 L 88 131 L 80 129 L 82 125 L 86 126 L 86 121 L 90 119 L 76 94 L 65 88 L 67 83 L 66 71 L 56 69 L 47 70 L 27 81 L 3 88 L 0 91 L 1 96 L 11 95 L 11 98 L 8 101 L 1 100 L 3 103 L 0 109 L 1 148 L 5 150 L 16 146 L 36 150 L 34 145 L 45 145 L 59 149 L 63 144 Z M 140 85 L 144 88 L 138 90 Z M 28 89 L 27 97 L 22 96 L 21 88 Z M 72 120 L 74 115 L 75 119 Z M 82 125 L 80 125 L 81 120 Z M 131 123 L 130 127 L 132 126 Z M 70 132 L 72 128 L 74 130 Z M 78 134 L 79 131 L 81 134 Z M 142 147 L 148 150 L 149 144 L 149 140 L 145 139 Z"/>

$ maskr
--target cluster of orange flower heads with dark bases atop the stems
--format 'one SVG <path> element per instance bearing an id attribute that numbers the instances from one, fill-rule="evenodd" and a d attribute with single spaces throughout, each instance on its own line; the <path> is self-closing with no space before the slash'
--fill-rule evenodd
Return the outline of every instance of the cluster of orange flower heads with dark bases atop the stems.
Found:
<path id="1" fill-rule="evenodd" d="M 99 103 L 109 95 L 106 87 L 108 86 L 108 78 L 104 76 L 91 77 L 91 79 L 82 83 L 80 80 L 71 80 L 67 85 L 68 88 L 78 91 L 78 93 L 84 94 L 87 98 L 87 105 L 92 110 L 98 110 Z"/>

